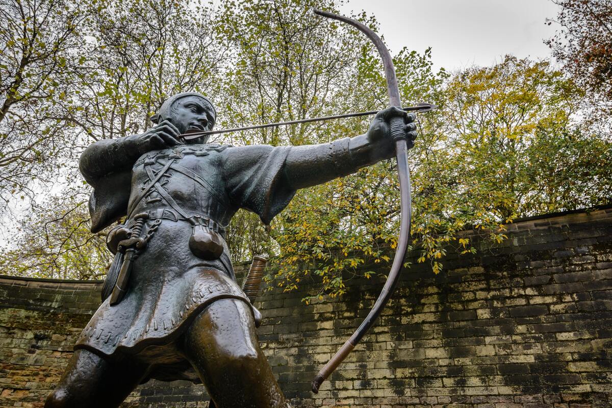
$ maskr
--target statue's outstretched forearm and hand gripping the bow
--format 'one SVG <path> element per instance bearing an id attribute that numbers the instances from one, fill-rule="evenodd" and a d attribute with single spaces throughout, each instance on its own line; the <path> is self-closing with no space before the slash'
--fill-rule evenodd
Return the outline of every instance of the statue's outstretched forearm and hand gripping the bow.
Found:
<path id="1" fill-rule="evenodd" d="M 414 140 L 414 114 L 388 108 L 376 114 L 364 135 L 332 143 L 291 147 L 285 161 L 285 177 L 291 188 L 297 190 L 321 184 L 393 157 L 395 147 L 390 138 L 389 119 L 394 116 L 405 117 L 408 139 Z"/>

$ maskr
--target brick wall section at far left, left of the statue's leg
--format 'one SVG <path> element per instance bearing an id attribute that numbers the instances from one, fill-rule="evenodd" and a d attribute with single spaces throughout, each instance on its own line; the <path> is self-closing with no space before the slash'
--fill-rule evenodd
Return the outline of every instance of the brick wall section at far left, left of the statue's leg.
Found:
<path id="1" fill-rule="evenodd" d="M 0 407 L 42 407 L 102 283 L 0 276 Z"/>

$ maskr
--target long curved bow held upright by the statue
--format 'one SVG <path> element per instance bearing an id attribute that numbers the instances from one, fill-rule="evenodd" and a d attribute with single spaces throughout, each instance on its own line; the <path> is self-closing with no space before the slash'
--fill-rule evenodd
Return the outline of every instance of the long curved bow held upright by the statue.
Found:
<path id="1" fill-rule="evenodd" d="M 330 12 L 322 10 L 313 10 L 316 14 L 327 18 L 333 18 L 334 20 L 343 21 L 344 23 L 351 24 L 352 26 L 359 29 L 368 36 L 370 40 L 376 45 L 378 52 L 383 59 L 385 76 L 387 78 L 387 92 L 389 94 L 389 103 L 391 106 L 401 107 L 400 90 L 397 85 L 397 76 L 395 76 L 395 67 L 393 60 L 384 45 L 383 40 L 365 24 L 359 21 L 353 20 L 352 18 L 344 17 Z M 401 221 L 400 221 L 400 237 L 397 243 L 397 251 L 393 259 L 393 264 L 387 277 L 387 281 L 384 284 L 383 291 L 378 296 L 375 305 L 373 306 L 368 316 L 365 317 L 364 322 L 357 328 L 356 332 L 346 341 L 346 343 L 340 347 L 340 350 L 336 352 L 334 357 L 319 371 L 319 374 L 315 377 L 312 382 L 313 393 L 318 393 L 321 384 L 330 376 L 331 373 L 340 365 L 341 362 L 353 351 L 354 347 L 359 343 L 360 339 L 363 338 L 365 333 L 372 327 L 376 318 L 383 311 L 384 306 L 389 301 L 389 298 L 393 294 L 395 286 L 397 285 L 398 278 L 400 276 L 401 267 L 406 258 L 406 251 L 408 250 L 408 241 L 410 239 L 410 223 L 411 223 L 411 196 L 410 196 L 410 171 L 408 167 L 408 144 L 406 143 L 406 132 L 405 122 L 403 117 L 394 117 L 390 120 L 390 132 L 395 141 L 395 155 L 397 157 L 397 169 L 398 176 L 400 179 L 400 197 L 401 197 Z"/>

